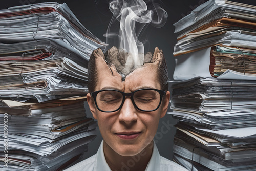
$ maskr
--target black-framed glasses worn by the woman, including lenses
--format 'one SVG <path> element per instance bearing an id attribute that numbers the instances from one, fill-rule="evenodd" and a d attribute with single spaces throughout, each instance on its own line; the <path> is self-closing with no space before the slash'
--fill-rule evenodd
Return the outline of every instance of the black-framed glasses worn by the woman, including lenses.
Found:
<path id="1" fill-rule="evenodd" d="M 119 90 L 99 90 L 91 93 L 96 107 L 101 112 L 115 112 L 122 108 L 125 97 L 131 97 L 136 109 L 144 112 L 159 108 L 165 91 L 158 89 L 139 89 L 131 93 Z"/>

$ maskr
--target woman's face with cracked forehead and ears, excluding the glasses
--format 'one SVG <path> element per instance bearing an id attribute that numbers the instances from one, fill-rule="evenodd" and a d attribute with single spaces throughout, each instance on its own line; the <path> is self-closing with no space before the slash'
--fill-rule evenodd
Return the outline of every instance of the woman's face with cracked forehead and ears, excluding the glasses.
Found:
<path id="1" fill-rule="evenodd" d="M 103 59 L 97 59 L 96 65 L 98 77 L 95 91 L 115 89 L 129 93 L 142 88 L 161 88 L 157 79 L 158 66 L 154 63 L 135 69 L 126 76 L 125 81 L 121 81 L 121 75 L 115 71 L 115 67 L 111 67 L 111 72 Z M 165 115 L 168 108 L 169 94 L 168 91 L 156 111 L 139 111 L 131 98 L 126 97 L 120 110 L 101 112 L 88 93 L 87 101 L 93 117 L 98 121 L 104 148 L 110 148 L 121 156 L 134 156 L 140 153 L 152 142 L 156 134 L 159 119 Z"/>

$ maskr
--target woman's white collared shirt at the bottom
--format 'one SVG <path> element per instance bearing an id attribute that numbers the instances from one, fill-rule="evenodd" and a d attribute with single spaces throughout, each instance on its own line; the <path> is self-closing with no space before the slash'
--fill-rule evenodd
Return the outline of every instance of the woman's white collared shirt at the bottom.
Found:
<path id="1" fill-rule="evenodd" d="M 136 159 L 132 161 L 131 159 L 130 162 L 122 163 L 122 170 L 120 171 L 130 170 L 130 167 L 132 167 L 135 162 L 139 161 L 136 161 Z M 104 156 L 103 141 L 101 142 L 98 152 L 95 155 L 75 164 L 72 167 L 67 168 L 64 171 L 111 171 L 108 163 L 106 163 Z M 187 171 L 187 169 L 173 161 L 160 156 L 157 146 L 154 142 L 153 153 L 145 171 Z"/>

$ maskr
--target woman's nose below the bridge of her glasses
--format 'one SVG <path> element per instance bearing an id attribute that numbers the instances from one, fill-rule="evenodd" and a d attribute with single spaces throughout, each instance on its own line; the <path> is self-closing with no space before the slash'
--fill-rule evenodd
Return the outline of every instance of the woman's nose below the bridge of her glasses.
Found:
<path id="1" fill-rule="evenodd" d="M 130 124 L 134 121 L 137 121 L 138 116 L 136 113 L 136 109 L 133 105 L 131 98 L 125 99 L 122 108 L 119 113 L 119 121 L 122 121 L 126 124 Z"/>

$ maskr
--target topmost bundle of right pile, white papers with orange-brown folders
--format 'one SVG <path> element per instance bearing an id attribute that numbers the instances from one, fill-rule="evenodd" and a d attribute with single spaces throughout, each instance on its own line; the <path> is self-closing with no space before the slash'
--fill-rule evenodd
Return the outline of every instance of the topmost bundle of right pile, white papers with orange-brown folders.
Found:
<path id="1" fill-rule="evenodd" d="M 255 47 L 255 9 L 255 6 L 226 0 L 202 4 L 174 24 L 178 34 L 174 55 L 219 43 Z"/>

